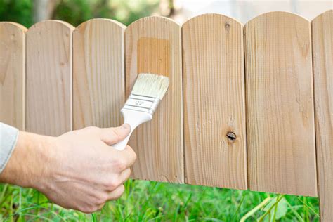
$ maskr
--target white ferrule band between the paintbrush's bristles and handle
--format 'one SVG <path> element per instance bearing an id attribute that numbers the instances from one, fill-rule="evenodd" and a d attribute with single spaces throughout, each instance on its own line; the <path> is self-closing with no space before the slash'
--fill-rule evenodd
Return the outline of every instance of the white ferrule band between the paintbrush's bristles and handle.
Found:
<path id="1" fill-rule="evenodd" d="M 131 95 L 129 95 L 129 98 L 126 100 L 123 109 L 148 112 L 153 115 L 159 101 L 160 100 L 155 97 L 136 95 L 131 93 Z"/>

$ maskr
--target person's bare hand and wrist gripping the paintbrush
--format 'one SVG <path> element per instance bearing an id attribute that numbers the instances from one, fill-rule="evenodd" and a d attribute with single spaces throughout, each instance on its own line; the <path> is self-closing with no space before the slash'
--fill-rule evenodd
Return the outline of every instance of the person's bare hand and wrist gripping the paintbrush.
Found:
<path id="1" fill-rule="evenodd" d="M 119 151 L 110 145 L 129 132 L 129 125 L 87 127 L 58 137 L 20 132 L 0 180 L 36 188 L 65 208 L 97 211 L 124 192 L 136 154 L 129 146 Z"/>

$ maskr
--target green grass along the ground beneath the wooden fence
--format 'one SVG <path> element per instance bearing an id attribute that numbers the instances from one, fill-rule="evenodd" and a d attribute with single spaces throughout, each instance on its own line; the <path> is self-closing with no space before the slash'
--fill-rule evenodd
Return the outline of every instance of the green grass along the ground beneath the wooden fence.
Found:
<path id="1" fill-rule="evenodd" d="M 0 221 L 319 221 L 315 197 L 134 180 L 125 188 L 101 211 L 82 214 L 36 190 L 0 185 Z"/>

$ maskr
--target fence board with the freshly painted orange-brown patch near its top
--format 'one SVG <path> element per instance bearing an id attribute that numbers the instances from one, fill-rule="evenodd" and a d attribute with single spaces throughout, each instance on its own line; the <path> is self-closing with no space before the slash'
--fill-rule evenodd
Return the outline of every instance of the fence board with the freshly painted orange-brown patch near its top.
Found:
<path id="1" fill-rule="evenodd" d="M 183 183 L 181 27 L 167 18 L 142 18 L 126 28 L 125 39 L 127 96 L 140 72 L 170 79 L 152 121 L 131 136 L 138 155 L 133 178 Z"/>

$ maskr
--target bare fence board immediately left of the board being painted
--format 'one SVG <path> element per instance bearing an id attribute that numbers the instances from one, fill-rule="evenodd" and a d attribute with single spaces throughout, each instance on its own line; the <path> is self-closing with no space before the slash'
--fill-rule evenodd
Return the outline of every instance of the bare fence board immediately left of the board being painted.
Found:
<path id="1" fill-rule="evenodd" d="M 108 19 L 89 20 L 74 30 L 74 129 L 122 124 L 124 30 L 124 25 Z"/>

